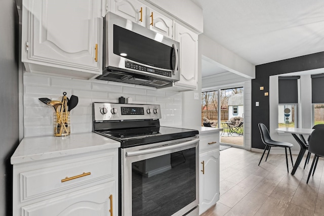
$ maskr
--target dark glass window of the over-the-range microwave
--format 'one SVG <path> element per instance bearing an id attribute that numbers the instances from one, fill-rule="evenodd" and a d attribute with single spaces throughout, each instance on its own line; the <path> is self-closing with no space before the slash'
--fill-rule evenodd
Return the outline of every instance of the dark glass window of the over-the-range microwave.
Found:
<path id="1" fill-rule="evenodd" d="M 113 25 L 113 53 L 142 64 L 173 70 L 174 49 L 161 42 Z"/>

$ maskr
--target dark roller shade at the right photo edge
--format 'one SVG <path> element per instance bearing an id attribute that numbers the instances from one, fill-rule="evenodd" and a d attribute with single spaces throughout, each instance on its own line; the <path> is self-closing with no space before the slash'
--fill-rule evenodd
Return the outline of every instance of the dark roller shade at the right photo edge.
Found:
<path id="1" fill-rule="evenodd" d="M 311 75 L 312 103 L 324 103 L 324 73 Z"/>

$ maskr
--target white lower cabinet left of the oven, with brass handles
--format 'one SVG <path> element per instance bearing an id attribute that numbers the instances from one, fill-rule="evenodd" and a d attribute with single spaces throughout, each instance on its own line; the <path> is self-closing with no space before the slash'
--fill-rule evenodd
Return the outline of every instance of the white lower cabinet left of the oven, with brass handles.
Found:
<path id="1" fill-rule="evenodd" d="M 14 164 L 13 215 L 118 215 L 118 149 Z"/>

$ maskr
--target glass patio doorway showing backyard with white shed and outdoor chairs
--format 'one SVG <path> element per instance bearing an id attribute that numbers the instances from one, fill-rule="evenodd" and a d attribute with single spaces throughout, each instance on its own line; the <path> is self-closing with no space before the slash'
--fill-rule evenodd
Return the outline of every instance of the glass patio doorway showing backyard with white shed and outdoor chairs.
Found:
<path id="1" fill-rule="evenodd" d="M 201 93 L 201 125 L 223 128 L 222 144 L 244 146 L 243 91 L 243 87 L 237 87 Z"/>

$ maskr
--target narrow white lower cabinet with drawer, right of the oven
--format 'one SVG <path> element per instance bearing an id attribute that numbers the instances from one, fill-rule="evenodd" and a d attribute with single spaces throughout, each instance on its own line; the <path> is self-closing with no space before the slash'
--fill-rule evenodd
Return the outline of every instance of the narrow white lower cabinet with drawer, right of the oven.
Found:
<path id="1" fill-rule="evenodd" d="M 199 214 L 219 200 L 219 132 L 199 135 Z"/>

